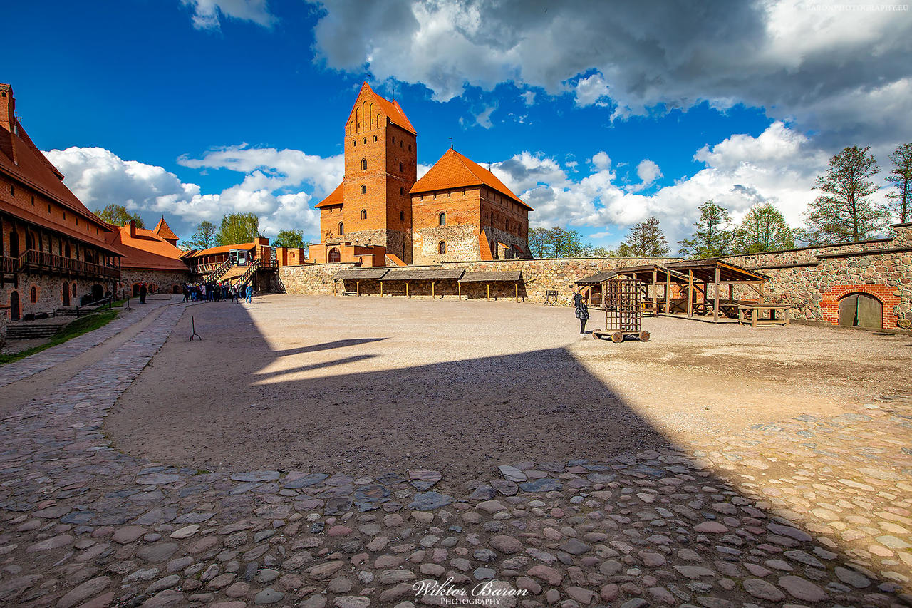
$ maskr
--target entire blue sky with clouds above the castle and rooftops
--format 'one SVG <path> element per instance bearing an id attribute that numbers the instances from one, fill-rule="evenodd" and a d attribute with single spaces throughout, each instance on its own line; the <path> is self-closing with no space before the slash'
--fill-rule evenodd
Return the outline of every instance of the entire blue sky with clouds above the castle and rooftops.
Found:
<path id="1" fill-rule="evenodd" d="M 708 198 L 736 219 L 772 201 L 798 225 L 834 152 L 871 145 L 886 167 L 912 140 L 909 11 L 663 6 L 18 2 L 0 81 L 90 208 L 164 214 L 180 236 L 254 211 L 266 236 L 316 238 L 364 79 L 399 100 L 420 165 L 452 137 L 533 225 L 600 246 L 656 215 L 674 249 Z"/>

